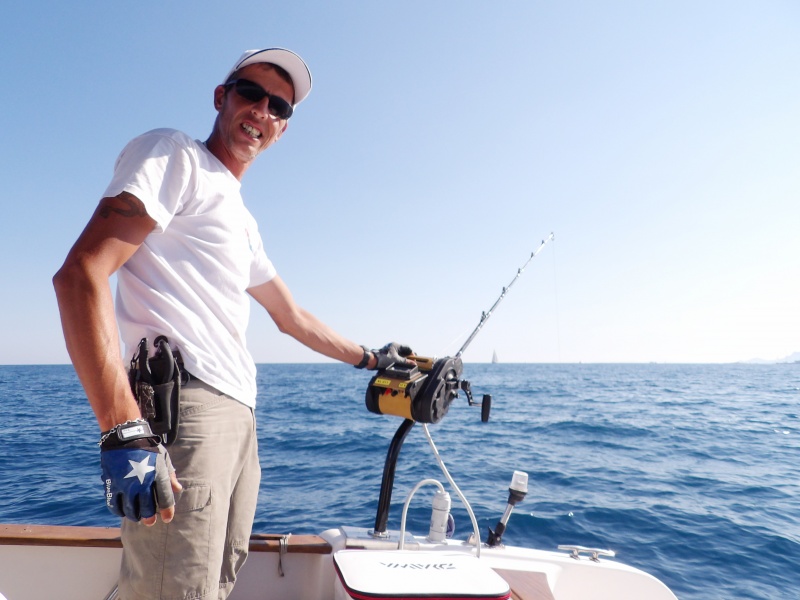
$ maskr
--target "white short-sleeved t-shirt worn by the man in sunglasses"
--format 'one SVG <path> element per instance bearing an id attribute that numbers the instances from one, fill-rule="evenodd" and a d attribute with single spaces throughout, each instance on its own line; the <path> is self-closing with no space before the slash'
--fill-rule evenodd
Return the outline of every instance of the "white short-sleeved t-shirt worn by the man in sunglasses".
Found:
<path id="1" fill-rule="evenodd" d="M 247 289 L 275 277 L 240 182 L 206 147 L 157 129 L 122 151 L 104 196 L 126 191 L 156 221 L 117 273 L 116 312 L 125 355 L 166 335 L 186 369 L 255 406 L 256 367 L 247 350 Z M 134 217 L 135 218 L 135 217 Z"/>

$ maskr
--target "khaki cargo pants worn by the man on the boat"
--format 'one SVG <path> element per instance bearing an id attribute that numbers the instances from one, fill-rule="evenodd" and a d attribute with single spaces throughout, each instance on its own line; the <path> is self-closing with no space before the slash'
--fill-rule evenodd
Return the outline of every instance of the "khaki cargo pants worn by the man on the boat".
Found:
<path id="1" fill-rule="evenodd" d="M 123 519 L 121 600 L 227 598 L 247 557 L 261 479 L 255 414 L 195 378 L 180 411 L 169 448 L 183 485 L 175 518 Z"/>

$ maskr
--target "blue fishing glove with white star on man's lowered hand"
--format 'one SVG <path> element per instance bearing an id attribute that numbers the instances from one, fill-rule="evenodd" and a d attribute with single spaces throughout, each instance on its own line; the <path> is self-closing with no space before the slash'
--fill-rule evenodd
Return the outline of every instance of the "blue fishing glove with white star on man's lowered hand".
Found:
<path id="1" fill-rule="evenodd" d="M 147 421 L 117 425 L 103 434 L 99 445 L 108 510 L 139 521 L 175 504 L 172 463 Z"/>

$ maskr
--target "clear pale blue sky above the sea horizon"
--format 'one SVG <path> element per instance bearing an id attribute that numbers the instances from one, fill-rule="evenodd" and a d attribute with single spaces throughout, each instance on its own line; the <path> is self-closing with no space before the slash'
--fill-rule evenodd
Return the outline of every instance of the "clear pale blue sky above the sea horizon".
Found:
<path id="1" fill-rule="evenodd" d="M 50 279 L 133 136 L 205 139 L 248 48 L 314 89 L 247 173 L 298 302 L 485 362 L 800 351 L 800 3 L 30 2 L 0 9 L 0 363 L 64 363 Z M 254 312 L 258 362 L 319 360 Z"/>

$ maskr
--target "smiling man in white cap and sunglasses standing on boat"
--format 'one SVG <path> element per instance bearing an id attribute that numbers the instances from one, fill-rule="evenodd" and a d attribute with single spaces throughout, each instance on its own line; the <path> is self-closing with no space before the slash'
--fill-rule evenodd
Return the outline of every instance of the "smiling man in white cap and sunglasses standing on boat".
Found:
<path id="1" fill-rule="evenodd" d="M 407 347 L 369 351 L 300 308 L 242 202 L 242 176 L 310 90 L 296 54 L 246 52 L 214 90 L 204 143 L 162 129 L 126 146 L 53 279 L 67 349 L 103 432 L 106 502 L 127 517 L 125 600 L 225 598 L 244 562 L 260 479 L 248 294 L 280 331 L 328 357 L 370 369 L 409 362 Z M 180 356 L 180 425 L 168 450 L 142 418 L 120 336 L 126 357 L 158 336 Z"/>

